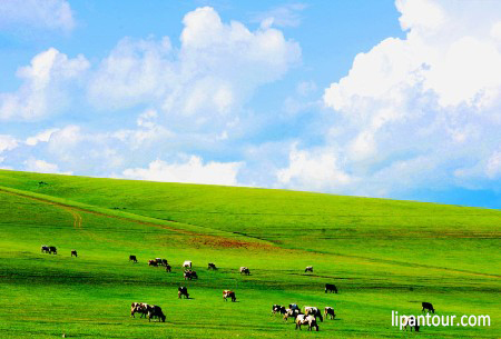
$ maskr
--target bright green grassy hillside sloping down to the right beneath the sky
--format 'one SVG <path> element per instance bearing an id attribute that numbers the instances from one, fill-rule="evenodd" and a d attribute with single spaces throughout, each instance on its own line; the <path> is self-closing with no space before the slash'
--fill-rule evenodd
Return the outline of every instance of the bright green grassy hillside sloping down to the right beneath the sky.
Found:
<path id="1" fill-rule="evenodd" d="M 0 337 L 499 338 L 500 226 L 499 210 L 0 170 Z M 157 257 L 171 273 L 147 266 Z M 183 280 L 184 260 L 198 280 Z M 160 306 L 166 322 L 130 318 L 132 301 Z M 420 313 L 421 301 L 491 326 L 391 326 L 392 310 Z M 271 316 L 291 302 L 332 306 L 336 320 L 295 330 Z"/>

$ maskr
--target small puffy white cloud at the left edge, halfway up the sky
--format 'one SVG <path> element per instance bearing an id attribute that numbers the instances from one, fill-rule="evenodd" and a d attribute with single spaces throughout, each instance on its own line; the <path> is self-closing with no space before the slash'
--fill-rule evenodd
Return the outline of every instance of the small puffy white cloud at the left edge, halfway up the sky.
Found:
<path id="1" fill-rule="evenodd" d="M 13 93 L 0 93 L 0 120 L 37 120 L 55 114 L 71 102 L 68 87 L 89 68 L 82 56 L 69 59 L 50 48 L 18 70 L 23 83 Z"/>

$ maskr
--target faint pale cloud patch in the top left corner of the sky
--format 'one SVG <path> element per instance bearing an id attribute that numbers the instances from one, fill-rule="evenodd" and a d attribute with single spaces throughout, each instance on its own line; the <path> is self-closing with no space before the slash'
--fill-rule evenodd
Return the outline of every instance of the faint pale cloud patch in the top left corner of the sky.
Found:
<path id="1" fill-rule="evenodd" d="M 2 0 L 0 27 L 14 24 L 70 31 L 75 19 L 66 0 Z"/>

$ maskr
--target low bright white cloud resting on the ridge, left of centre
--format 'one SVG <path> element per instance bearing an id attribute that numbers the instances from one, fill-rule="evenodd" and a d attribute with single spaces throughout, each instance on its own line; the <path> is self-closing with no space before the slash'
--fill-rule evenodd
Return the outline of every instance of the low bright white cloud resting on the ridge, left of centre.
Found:
<path id="1" fill-rule="evenodd" d="M 242 162 L 215 162 L 204 164 L 202 158 L 190 156 L 183 162 L 168 163 L 163 160 L 155 160 L 148 168 L 126 169 L 122 175 L 128 179 L 207 183 L 236 186 L 238 169 Z"/>

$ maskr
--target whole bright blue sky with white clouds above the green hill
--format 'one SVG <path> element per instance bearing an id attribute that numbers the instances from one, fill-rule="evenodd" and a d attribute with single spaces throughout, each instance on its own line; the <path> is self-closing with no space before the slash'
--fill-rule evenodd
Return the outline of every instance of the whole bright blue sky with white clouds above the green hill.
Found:
<path id="1" fill-rule="evenodd" d="M 501 208 L 500 1 L 3 0 L 0 60 L 2 169 Z"/>

